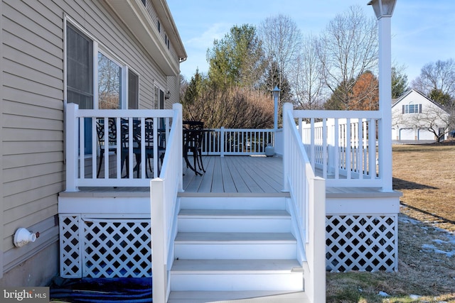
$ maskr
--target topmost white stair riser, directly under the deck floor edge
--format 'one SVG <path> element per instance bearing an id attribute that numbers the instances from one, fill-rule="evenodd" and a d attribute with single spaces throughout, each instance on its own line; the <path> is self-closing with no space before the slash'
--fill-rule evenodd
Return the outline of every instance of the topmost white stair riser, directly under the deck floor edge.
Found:
<path id="1" fill-rule="evenodd" d="M 181 209 L 286 209 L 285 198 L 181 197 Z"/>

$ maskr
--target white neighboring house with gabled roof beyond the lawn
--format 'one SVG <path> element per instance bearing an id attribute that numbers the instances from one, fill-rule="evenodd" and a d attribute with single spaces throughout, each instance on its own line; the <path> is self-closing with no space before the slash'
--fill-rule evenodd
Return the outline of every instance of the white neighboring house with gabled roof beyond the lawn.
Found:
<path id="1" fill-rule="evenodd" d="M 392 105 L 392 140 L 445 140 L 449 113 L 422 92 L 410 89 Z"/>

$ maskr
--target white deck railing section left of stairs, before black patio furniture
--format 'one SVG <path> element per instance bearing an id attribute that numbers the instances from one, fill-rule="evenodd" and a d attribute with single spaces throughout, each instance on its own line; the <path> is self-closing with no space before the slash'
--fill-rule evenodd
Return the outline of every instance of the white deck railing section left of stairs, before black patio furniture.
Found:
<path id="1" fill-rule="evenodd" d="M 66 191 L 77 191 L 77 187 L 149 187 L 151 177 L 158 177 L 159 174 L 162 147 L 159 140 L 155 140 L 153 149 L 148 150 L 149 153 L 153 150 L 149 154 L 153 161 L 152 172 L 146 153 L 144 121 L 151 118 L 153 125 L 158 126 L 153 128 L 153 137 L 164 136 L 167 143 L 171 123 L 177 115 L 176 109 L 78 109 L 77 104 L 67 104 Z M 138 126 L 136 134 L 133 133 L 135 125 Z M 99 139 L 99 131 L 114 133 L 114 139 L 109 139 L 109 136 Z M 134 135 L 139 135 L 137 138 L 140 141 L 134 141 Z M 102 162 L 101 153 L 104 153 Z M 140 164 L 137 165 L 137 162 Z"/>

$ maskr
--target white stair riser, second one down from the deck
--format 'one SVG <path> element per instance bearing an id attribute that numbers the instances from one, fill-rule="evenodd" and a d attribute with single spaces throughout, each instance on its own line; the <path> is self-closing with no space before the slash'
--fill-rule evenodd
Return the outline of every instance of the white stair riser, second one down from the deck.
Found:
<path id="1" fill-rule="evenodd" d="M 178 219 L 181 232 L 286 233 L 290 230 L 290 219 Z"/>

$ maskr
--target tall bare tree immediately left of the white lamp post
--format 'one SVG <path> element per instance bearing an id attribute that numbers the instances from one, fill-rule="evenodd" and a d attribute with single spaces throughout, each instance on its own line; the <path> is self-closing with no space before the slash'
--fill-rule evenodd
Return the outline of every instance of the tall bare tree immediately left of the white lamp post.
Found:
<path id="1" fill-rule="evenodd" d="M 360 6 L 337 15 L 321 34 L 318 53 L 326 86 L 336 99 L 348 104 L 357 79 L 367 70 L 378 70 L 378 31 L 374 18 Z"/>

